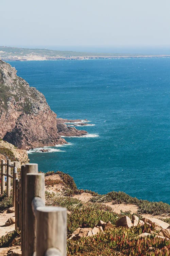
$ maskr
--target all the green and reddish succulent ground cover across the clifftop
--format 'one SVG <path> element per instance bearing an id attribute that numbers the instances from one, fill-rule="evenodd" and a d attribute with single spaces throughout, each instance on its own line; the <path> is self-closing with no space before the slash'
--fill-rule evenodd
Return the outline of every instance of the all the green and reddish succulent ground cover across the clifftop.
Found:
<path id="1" fill-rule="evenodd" d="M 59 179 L 52 179 L 58 174 Z M 106 256 L 106 255 L 147 255 L 147 256 L 168 256 L 170 254 L 170 240 L 155 237 L 158 231 L 154 225 L 147 224 L 143 226 L 136 226 L 131 228 L 116 227 L 115 222 L 122 216 L 129 216 L 132 220 L 132 213 L 130 211 L 120 214 L 113 212 L 113 209 L 103 204 L 105 201 L 114 201 L 119 203 L 129 203 L 138 205 L 139 209 L 145 213 L 159 212 L 159 214 L 170 213 L 169 205 L 163 202 L 149 202 L 147 200 L 139 200 L 130 197 L 123 192 L 111 192 L 106 195 L 99 195 L 88 190 L 79 190 L 73 180 L 68 174 L 62 172 L 48 172 L 45 174 L 45 185 L 47 187 L 62 185 L 62 191 L 51 192 L 46 191 L 46 205 L 66 207 L 68 211 L 67 216 L 67 234 L 68 237 L 77 228 L 93 228 L 101 219 L 104 222 L 110 221 L 113 229 L 105 230 L 91 237 L 82 237 L 79 240 L 67 241 L 67 256 Z M 48 179 L 47 179 L 48 177 Z M 89 202 L 83 202 L 73 195 L 81 193 L 90 193 L 92 198 Z M 12 197 L 7 198 L 5 194 L 0 196 L 0 210 L 7 209 L 12 205 Z M 142 209 L 143 206 L 143 209 Z M 141 219 L 142 211 L 139 211 L 139 219 Z M 169 218 L 164 218 L 163 221 L 170 224 Z M 152 233 L 152 232 L 153 233 Z M 141 233 L 152 233 L 150 237 L 138 237 Z M 155 232 L 155 233 L 154 233 Z M 4 247 L 16 239 L 19 242 L 19 234 L 14 231 L 7 234 L 0 239 L 0 247 Z"/>

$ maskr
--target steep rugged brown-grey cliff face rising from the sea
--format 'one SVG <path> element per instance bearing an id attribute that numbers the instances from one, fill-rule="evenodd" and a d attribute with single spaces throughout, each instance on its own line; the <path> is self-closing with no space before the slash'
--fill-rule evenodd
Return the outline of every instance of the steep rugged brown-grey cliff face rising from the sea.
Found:
<path id="1" fill-rule="evenodd" d="M 1 60 L 0 138 L 24 149 L 66 143 L 58 135 L 56 114 L 44 95 Z"/>

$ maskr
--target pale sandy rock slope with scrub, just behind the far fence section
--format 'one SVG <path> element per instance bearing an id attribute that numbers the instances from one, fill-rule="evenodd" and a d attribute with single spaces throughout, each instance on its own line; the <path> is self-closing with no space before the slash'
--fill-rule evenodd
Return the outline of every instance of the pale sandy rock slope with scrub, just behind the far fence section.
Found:
<path id="1" fill-rule="evenodd" d="M 21 164 L 29 162 L 28 154 L 26 150 L 16 148 L 11 143 L 0 140 L 0 159 L 11 161 L 19 161 Z"/>

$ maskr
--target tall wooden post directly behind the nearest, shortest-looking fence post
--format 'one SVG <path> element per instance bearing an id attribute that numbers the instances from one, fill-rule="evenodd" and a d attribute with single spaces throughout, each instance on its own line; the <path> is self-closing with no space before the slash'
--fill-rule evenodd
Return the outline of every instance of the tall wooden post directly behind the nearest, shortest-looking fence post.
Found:
<path id="1" fill-rule="evenodd" d="M 44 173 L 27 174 L 27 223 L 26 223 L 26 256 L 36 251 L 36 217 L 32 210 L 32 200 L 40 197 L 45 205 L 45 175 Z"/>

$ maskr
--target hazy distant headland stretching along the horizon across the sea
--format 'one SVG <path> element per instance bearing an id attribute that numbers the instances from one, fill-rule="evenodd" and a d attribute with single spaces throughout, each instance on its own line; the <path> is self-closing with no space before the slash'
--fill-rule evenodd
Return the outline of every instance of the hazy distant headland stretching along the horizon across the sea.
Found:
<path id="1" fill-rule="evenodd" d="M 27 60 L 84 60 L 84 59 L 117 59 L 117 58 L 165 58 L 170 55 L 144 55 L 123 53 L 90 53 L 57 51 L 50 49 L 30 49 L 0 46 L 0 59 L 4 61 Z"/>

